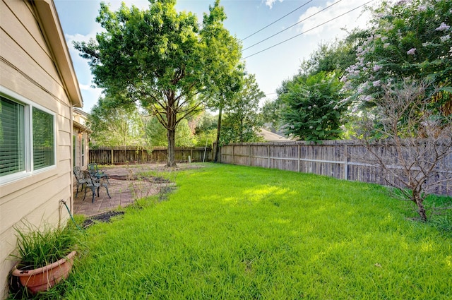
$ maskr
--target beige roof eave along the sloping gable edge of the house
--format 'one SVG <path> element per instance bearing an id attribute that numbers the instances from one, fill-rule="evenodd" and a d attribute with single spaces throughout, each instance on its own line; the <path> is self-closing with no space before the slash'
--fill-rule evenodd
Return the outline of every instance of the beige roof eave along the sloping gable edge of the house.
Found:
<path id="1" fill-rule="evenodd" d="M 52 53 L 58 72 L 63 80 L 73 107 L 83 107 L 83 99 L 74 71 L 71 55 L 64 40 L 63 29 L 59 23 L 57 8 L 53 0 L 30 1 L 36 8 L 38 22 Z"/>

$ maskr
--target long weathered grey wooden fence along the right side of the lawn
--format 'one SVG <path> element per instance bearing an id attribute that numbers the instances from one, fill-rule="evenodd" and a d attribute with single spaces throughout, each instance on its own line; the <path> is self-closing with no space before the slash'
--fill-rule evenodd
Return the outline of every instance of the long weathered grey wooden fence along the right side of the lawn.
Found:
<path id="1" fill-rule="evenodd" d="M 384 160 L 391 164 L 391 168 L 400 169 L 393 148 L 388 145 L 374 147 L 381 155 L 386 155 Z M 381 168 L 372 162 L 375 160 L 364 145 L 350 140 L 325 140 L 316 145 L 303 141 L 230 144 L 220 148 L 219 157 L 225 164 L 283 169 L 374 184 L 386 184 L 383 176 L 388 176 L 383 175 Z M 447 168 L 439 173 L 448 176 L 452 170 L 452 155 L 444 162 Z M 431 180 L 440 181 L 439 178 Z M 444 181 L 429 192 L 452 195 L 452 181 Z"/>

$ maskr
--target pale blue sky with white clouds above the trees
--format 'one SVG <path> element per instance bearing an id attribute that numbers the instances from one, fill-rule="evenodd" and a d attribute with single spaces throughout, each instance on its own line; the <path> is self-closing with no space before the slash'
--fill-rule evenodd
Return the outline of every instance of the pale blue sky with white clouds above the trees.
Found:
<path id="1" fill-rule="evenodd" d="M 208 12 L 209 5 L 213 5 L 214 1 L 177 0 L 176 9 L 195 13 L 201 23 L 203 13 Z M 283 80 L 298 73 L 302 61 L 309 59 L 309 55 L 319 48 L 319 44 L 333 42 L 335 38 L 341 39 L 347 35 L 347 30 L 367 27 L 370 14 L 358 8 L 367 1 L 369 0 L 220 1 L 227 16 L 225 28 L 242 41 L 242 58 L 246 71 L 255 74 L 259 88 L 266 93 L 266 98 L 261 103 L 275 99 L 276 89 Z M 104 2 L 117 11 L 122 1 Z M 149 6 L 147 0 L 124 2 L 127 6 L 135 5 L 142 9 Z M 102 95 L 102 90 L 93 87 L 88 60 L 83 59 L 74 49 L 73 41 L 88 41 L 103 30 L 95 22 L 100 1 L 54 0 L 54 3 L 80 85 L 83 111 L 89 113 Z M 376 4 L 378 1 L 374 0 L 368 5 Z M 357 9 L 351 11 L 354 8 Z M 283 16 L 285 17 L 282 18 Z M 282 19 L 278 20 L 280 18 Z M 275 22 L 276 20 L 278 21 Z M 270 25 L 271 23 L 273 24 Z M 296 23 L 298 24 L 295 25 Z M 272 35 L 275 36 L 271 37 Z M 285 40 L 288 41 L 284 42 Z M 268 49 L 269 47 L 271 48 Z"/>

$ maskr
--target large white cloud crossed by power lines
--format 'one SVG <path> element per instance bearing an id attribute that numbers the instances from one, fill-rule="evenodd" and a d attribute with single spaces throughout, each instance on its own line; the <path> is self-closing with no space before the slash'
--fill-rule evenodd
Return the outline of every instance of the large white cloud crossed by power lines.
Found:
<path id="1" fill-rule="evenodd" d="M 331 6 L 332 4 L 333 6 Z M 299 16 L 299 21 L 304 19 L 307 20 L 300 23 L 297 30 L 299 32 L 306 32 L 304 35 L 317 35 L 323 37 L 324 39 L 336 36 L 344 37 L 346 32 L 341 30 L 342 28 L 347 28 L 347 30 L 351 30 L 353 28 L 366 28 L 367 21 L 370 20 L 370 14 L 369 11 L 363 12 L 363 7 L 357 8 L 361 5 L 362 0 L 341 1 L 339 3 L 338 0 L 334 0 L 326 2 L 325 6 L 311 6 L 302 14 L 302 16 Z M 327 8 L 325 11 L 321 11 L 327 6 L 331 7 Z M 355 11 L 351 11 L 353 8 L 357 9 Z M 351 12 L 347 13 L 348 11 Z M 312 16 L 314 13 L 317 14 Z M 344 13 L 344 16 L 340 16 Z M 333 18 L 336 19 L 332 20 Z M 328 20 L 332 21 L 326 23 L 325 25 L 321 25 Z M 317 26 L 319 27 L 316 28 Z"/>

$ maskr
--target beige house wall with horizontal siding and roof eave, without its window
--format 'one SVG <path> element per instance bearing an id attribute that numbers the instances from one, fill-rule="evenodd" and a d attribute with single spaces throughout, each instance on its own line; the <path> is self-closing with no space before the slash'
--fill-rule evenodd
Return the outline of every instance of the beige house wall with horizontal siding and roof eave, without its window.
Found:
<path id="1" fill-rule="evenodd" d="M 14 261 L 13 227 L 26 220 L 66 224 L 72 204 L 72 106 L 81 95 L 52 0 L 0 0 L 0 87 L 54 114 L 55 165 L 12 181 L 0 177 L 0 299 Z"/>

